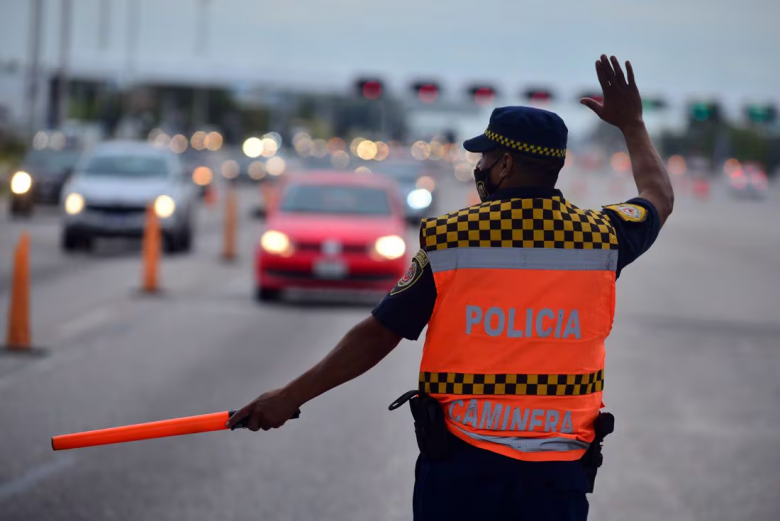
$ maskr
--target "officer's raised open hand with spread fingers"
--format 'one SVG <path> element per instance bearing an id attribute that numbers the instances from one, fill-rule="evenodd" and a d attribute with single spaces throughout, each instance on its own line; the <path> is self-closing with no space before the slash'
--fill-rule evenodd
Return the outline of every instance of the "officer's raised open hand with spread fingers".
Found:
<path id="1" fill-rule="evenodd" d="M 626 62 L 628 79 L 623 75 L 620 62 L 614 56 L 607 59 L 606 54 L 596 62 L 596 74 L 604 92 L 604 101 L 599 103 L 593 98 L 582 98 L 580 103 L 589 107 L 607 123 L 624 130 L 636 124 L 642 124 L 642 98 L 634 81 L 634 69 Z"/>

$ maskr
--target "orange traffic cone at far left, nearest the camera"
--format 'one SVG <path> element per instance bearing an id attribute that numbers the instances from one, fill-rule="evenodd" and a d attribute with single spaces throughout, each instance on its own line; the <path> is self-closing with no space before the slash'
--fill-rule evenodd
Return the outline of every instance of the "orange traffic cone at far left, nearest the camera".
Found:
<path id="1" fill-rule="evenodd" d="M 30 350 L 30 236 L 19 238 L 14 254 L 14 274 L 11 301 L 8 306 L 9 350 Z"/>

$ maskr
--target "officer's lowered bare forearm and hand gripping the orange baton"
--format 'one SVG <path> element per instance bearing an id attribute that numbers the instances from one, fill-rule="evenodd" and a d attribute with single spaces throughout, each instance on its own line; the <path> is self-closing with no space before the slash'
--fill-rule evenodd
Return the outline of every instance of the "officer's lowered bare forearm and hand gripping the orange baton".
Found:
<path id="1" fill-rule="evenodd" d="M 239 410 L 230 418 L 228 426 L 246 418 L 253 431 L 281 427 L 301 405 L 365 373 L 400 341 L 400 336 L 369 316 L 353 327 L 320 363 L 281 389 L 269 391 Z"/>

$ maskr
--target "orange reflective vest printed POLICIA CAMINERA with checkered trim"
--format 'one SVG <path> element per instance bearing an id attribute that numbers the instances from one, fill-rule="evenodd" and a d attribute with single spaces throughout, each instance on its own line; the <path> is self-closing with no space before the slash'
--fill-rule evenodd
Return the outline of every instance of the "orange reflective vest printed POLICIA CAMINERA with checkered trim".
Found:
<path id="1" fill-rule="evenodd" d="M 420 390 L 449 430 L 526 461 L 582 457 L 603 407 L 617 236 L 561 197 L 489 201 L 423 221 L 436 282 Z"/>

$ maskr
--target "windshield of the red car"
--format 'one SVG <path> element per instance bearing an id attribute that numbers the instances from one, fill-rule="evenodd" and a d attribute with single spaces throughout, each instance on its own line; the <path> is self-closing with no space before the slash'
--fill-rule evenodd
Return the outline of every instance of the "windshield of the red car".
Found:
<path id="1" fill-rule="evenodd" d="M 387 192 L 381 188 L 346 185 L 292 185 L 281 210 L 294 213 L 390 215 Z"/>

